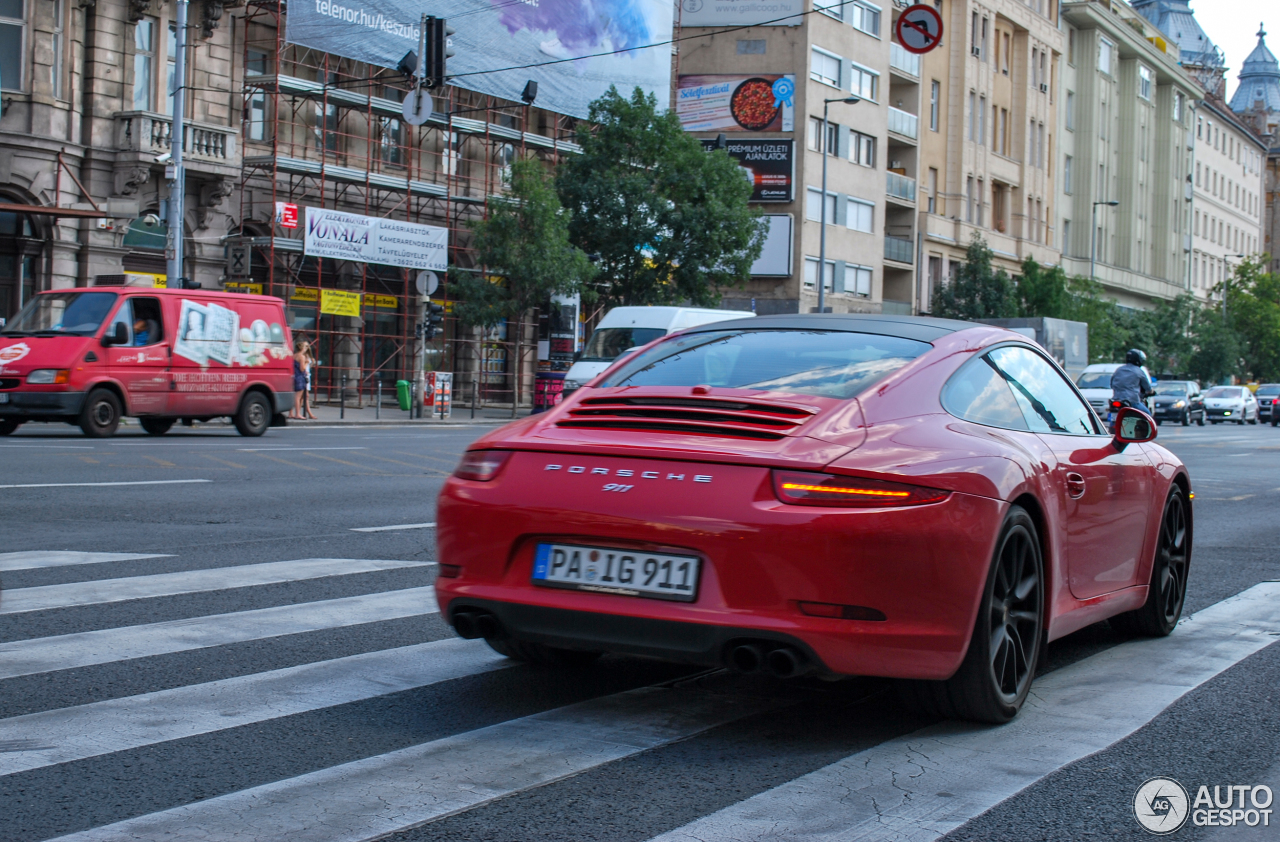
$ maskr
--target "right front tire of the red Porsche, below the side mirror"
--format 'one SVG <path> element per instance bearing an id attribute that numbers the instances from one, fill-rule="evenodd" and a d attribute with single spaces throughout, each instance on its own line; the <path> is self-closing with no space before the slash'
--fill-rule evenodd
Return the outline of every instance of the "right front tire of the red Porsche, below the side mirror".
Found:
<path id="1" fill-rule="evenodd" d="M 1142 608 L 1111 618 L 1121 633 L 1164 637 L 1174 631 L 1187 601 L 1187 572 L 1192 559 L 1190 517 L 1183 490 L 1176 485 L 1165 500 L 1160 518 L 1160 543 L 1151 566 L 1151 587 Z"/>

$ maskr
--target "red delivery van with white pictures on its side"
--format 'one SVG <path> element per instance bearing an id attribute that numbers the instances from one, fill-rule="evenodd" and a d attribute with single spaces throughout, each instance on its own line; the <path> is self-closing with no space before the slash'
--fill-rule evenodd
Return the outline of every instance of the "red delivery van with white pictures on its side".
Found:
<path id="1" fill-rule="evenodd" d="M 65 421 L 109 436 L 137 416 L 229 416 L 241 435 L 283 426 L 293 404 L 284 302 L 266 296 L 91 287 L 33 297 L 0 330 L 0 435 Z"/>

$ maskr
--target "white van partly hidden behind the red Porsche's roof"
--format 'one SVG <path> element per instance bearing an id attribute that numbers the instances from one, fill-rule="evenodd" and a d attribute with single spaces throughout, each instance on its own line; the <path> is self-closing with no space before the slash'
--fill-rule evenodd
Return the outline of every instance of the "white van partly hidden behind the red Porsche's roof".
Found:
<path id="1" fill-rule="evenodd" d="M 631 348 L 646 346 L 668 333 L 713 321 L 749 319 L 748 310 L 705 310 L 703 307 L 614 307 L 604 314 L 595 333 L 586 340 L 581 356 L 564 374 L 564 394 L 580 389 Z"/>

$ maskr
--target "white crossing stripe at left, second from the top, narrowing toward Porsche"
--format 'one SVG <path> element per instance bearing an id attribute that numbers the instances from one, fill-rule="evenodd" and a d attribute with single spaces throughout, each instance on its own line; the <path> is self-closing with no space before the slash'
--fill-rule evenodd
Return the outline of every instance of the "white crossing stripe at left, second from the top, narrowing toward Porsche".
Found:
<path id="1" fill-rule="evenodd" d="M 13 587 L 4 591 L 4 599 L 0 600 L 0 614 L 120 603 L 129 599 L 178 596 L 232 587 L 297 582 L 325 576 L 371 573 L 402 567 L 428 567 L 434 563 L 366 558 L 301 558 L 292 562 L 211 567 L 179 573 L 155 573 L 40 587 Z"/>

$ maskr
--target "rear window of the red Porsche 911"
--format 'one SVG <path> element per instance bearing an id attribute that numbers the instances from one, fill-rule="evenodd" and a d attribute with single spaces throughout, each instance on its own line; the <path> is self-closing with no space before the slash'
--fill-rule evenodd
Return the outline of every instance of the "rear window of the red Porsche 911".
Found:
<path id="1" fill-rule="evenodd" d="M 716 330 L 663 342 L 607 386 L 723 386 L 851 398 L 932 346 L 842 330 Z"/>

